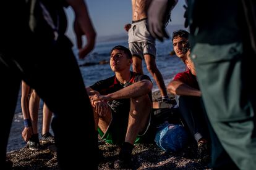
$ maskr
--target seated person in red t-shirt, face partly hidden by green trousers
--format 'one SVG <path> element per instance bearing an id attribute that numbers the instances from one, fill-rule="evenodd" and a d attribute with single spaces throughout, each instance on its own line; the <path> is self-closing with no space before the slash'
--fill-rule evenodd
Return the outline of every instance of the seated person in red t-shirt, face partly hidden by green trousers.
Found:
<path id="1" fill-rule="evenodd" d="M 200 100 L 202 94 L 198 87 L 194 63 L 190 59 L 189 47 L 184 54 L 186 54 L 184 62 L 187 70 L 174 77 L 173 81 L 168 84 L 168 91 L 176 94 L 182 118 L 198 144 L 198 153 L 202 155 L 205 151 L 208 152 L 207 123 Z"/>

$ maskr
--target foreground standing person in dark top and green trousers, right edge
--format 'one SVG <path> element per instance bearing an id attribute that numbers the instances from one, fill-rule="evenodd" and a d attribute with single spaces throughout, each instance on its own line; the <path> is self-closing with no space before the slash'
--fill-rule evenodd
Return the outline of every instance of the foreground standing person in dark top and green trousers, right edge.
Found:
<path id="1" fill-rule="evenodd" d="M 191 58 L 213 130 L 213 168 L 256 169 L 256 56 L 242 1 L 189 1 L 188 14 Z"/>

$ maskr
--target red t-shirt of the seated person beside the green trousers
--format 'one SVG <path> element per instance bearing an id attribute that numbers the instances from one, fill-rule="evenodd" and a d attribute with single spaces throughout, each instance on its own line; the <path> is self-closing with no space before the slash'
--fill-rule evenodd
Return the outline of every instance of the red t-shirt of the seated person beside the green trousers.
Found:
<path id="1" fill-rule="evenodd" d="M 199 90 L 197 77 L 195 75 L 192 75 L 190 70 L 184 71 L 182 73 L 177 73 L 177 75 L 174 77 L 173 80 L 182 81 L 183 83 L 189 85 L 190 87 L 193 87 Z"/>

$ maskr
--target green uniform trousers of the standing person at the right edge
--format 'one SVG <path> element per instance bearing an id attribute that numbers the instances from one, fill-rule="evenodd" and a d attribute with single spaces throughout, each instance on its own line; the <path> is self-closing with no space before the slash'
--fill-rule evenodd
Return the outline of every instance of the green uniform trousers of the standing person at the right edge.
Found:
<path id="1" fill-rule="evenodd" d="M 249 76 L 253 68 L 249 63 L 255 59 L 251 57 L 256 59 L 244 56 L 239 42 L 198 43 L 192 51 L 208 119 L 239 169 L 256 168 L 256 86 L 252 85 L 254 76 Z"/>

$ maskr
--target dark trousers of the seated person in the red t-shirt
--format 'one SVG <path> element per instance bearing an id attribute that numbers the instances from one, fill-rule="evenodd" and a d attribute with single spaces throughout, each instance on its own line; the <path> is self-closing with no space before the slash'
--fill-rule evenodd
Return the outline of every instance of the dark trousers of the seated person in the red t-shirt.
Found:
<path id="1" fill-rule="evenodd" d="M 197 142 L 202 137 L 208 139 L 208 129 L 200 97 L 181 95 L 178 100 L 179 110 L 190 134 Z"/>

